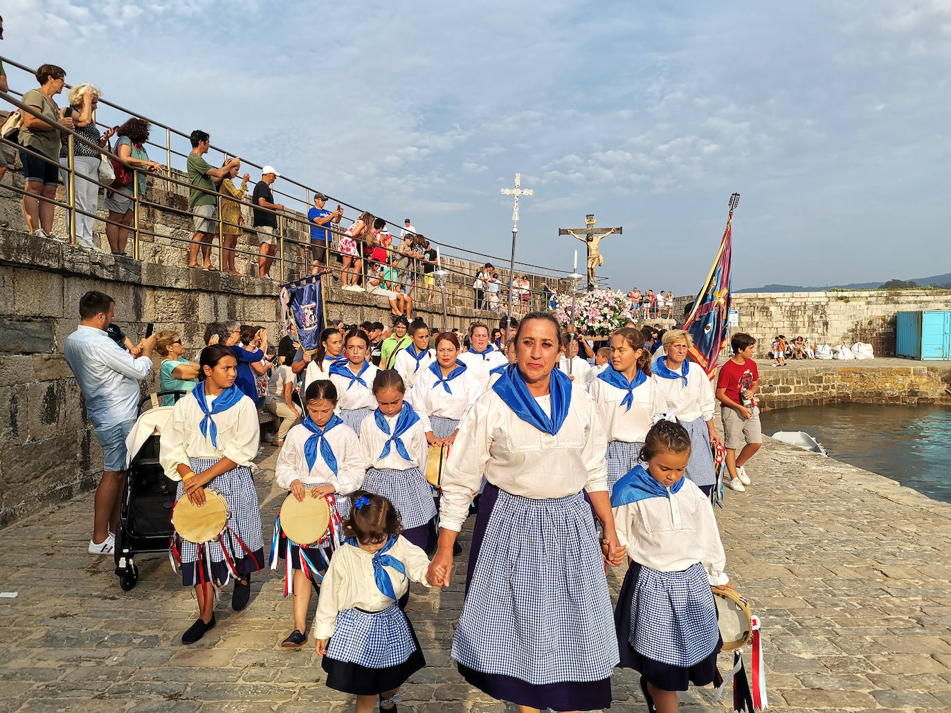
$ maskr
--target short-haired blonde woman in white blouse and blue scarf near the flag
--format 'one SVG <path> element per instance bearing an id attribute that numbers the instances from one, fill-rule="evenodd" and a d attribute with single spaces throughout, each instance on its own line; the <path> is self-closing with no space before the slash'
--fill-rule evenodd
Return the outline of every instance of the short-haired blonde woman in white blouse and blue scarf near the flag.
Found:
<path id="1" fill-rule="evenodd" d="M 667 403 L 667 411 L 676 412 L 677 420 L 690 434 L 690 460 L 687 477 L 709 494 L 716 482 L 711 447 L 720 443 L 713 427 L 713 387 L 700 364 L 687 360 L 693 339 L 682 329 L 664 334 L 666 356 L 653 362 L 653 380 Z"/>

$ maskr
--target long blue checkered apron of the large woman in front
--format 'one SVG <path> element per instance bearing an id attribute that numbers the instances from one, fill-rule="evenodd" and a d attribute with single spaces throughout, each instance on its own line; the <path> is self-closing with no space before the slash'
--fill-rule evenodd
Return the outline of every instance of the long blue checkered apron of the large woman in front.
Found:
<path id="1" fill-rule="evenodd" d="M 453 658 L 532 685 L 602 681 L 618 662 L 611 595 L 582 492 L 498 491 L 453 639 Z"/>

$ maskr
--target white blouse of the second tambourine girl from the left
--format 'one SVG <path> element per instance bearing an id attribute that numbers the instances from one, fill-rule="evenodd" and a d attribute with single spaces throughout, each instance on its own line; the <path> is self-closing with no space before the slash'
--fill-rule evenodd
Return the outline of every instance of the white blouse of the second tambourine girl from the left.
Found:
<path id="1" fill-rule="evenodd" d="M 345 423 L 339 423 L 324 436 L 337 458 L 337 475 L 323 462 L 318 453 L 314 467 L 307 470 L 307 458 L 303 446 L 313 435 L 306 426 L 298 424 L 284 436 L 284 445 L 278 453 L 278 462 L 274 467 L 274 479 L 278 486 L 289 490 L 291 483 L 300 480 L 304 485 L 330 483 L 341 494 L 356 491 L 363 484 L 366 475 L 366 461 L 360 448 L 357 434 Z"/>

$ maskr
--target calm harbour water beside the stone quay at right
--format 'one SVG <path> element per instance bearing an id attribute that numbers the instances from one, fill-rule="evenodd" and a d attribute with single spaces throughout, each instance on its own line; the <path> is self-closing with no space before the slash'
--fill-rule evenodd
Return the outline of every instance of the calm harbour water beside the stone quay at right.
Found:
<path id="1" fill-rule="evenodd" d="M 951 406 L 799 406 L 761 421 L 765 434 L 805 431 L 831 458 L 951 502 Z"/>

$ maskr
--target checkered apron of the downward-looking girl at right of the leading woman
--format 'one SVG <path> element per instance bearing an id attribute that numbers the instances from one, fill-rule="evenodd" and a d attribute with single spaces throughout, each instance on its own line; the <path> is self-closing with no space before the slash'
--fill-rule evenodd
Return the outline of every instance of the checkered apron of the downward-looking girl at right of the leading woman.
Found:
<path id="1" fill-rule="evenodd" d="M 719 639 L 716 604 L 702 564 L 679 572 L 641 567 L 628 638 L 637 653 L 686 668 L 707 658 Z"/>

